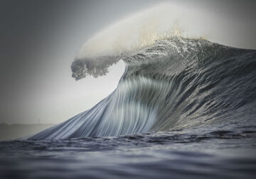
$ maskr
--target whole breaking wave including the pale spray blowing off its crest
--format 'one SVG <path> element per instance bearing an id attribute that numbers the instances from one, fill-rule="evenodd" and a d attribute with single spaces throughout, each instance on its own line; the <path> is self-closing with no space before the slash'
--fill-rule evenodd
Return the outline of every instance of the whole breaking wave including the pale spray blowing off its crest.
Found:
<path id="1" fill-rule="evenodd" d="M 181 18 L 184 14 L 189 16 Z M 208 11 L 160 4 L 105 28 L 87 40 L 71 70 L 75 80 L 99 77 L 123 60 L 126 68 L 117 89 L 92 109 L 30 139 L 119 136 L 252 121 L 256 50 L 218 44 L 229 41 L 227 32 L 216 26 L 230 25 L 224 18 L 219 22 Z M 198 38 L 209 29 L 218 43 Z"/>

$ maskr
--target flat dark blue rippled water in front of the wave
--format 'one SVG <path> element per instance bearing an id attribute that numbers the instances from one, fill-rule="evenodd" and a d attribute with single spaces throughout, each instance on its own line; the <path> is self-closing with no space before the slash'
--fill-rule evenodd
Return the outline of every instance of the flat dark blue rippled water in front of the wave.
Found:
<path id="1" fill-rule="evenodd" d="M 0 143 L 0 178 L 255 178 L 256 126 Z"/>

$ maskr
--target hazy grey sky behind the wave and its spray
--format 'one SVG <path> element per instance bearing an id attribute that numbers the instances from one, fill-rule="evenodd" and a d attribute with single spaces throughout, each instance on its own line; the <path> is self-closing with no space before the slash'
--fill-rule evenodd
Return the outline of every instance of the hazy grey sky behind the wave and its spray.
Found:
<path id="1" fill-rule="evenodd" d="M 28 124 L 40 118 L 57 124 L 107 97 L 117 86 L 123 63 L 104 77 L 75 81 L 73 59 L 97 31 L 159 2 L 0 1 L 0 122 Z M 230 31 L 226 45 L 256 49 L 255 1 L 178 2 L 233 23 L 225 29 Z"/>

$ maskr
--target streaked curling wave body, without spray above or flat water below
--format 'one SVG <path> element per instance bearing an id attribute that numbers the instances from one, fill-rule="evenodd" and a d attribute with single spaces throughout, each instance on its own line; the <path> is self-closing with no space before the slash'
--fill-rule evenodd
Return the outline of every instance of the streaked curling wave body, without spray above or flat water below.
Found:
<path id="1" fill-rule="evenodd" d="M 31 139 L 70 139 L 252 121 L 256 50 L 173 37 L 129 55 L 77 59 L 73 77 L 105 75 L 123 60 L 117 89 L 95 107 Z"/>

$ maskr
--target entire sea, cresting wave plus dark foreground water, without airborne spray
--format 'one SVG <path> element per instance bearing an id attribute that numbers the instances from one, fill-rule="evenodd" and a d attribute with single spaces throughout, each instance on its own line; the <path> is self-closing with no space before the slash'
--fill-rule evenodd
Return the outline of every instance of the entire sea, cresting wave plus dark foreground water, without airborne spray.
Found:
<path id="1" fill-rule="evenodd" d="M 77 58 L 73 77 L 117 89 L 61 124 L 0 143 L 0 178 L 255 178 L 256 50 L 172 37 Z"/>

